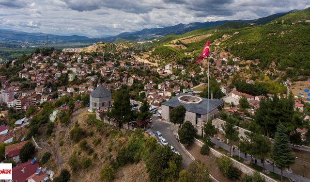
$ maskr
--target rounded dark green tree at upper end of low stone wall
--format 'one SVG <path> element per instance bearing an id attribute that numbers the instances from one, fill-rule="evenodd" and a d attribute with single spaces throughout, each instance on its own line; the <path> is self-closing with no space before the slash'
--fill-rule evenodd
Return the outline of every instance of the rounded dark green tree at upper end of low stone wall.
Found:
<path id="1" fill-rule="evenodd" d="M 191 122 L 186 121 L 182 125 L 181 129 L 178 130 L 178 134 L 180 142 L 188 145 L 193 142 L 194 138 L 197 136 L 197 129 L 194 128 Z"/>

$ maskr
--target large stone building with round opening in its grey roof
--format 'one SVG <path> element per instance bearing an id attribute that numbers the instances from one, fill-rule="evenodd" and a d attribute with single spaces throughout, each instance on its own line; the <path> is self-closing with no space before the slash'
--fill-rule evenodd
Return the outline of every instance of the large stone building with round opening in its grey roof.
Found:
<path id="1" fill-rule="evenodd" d="M 209 119 L 213 119 L 219 112 L 219 107 L 224 103 L 220 99 L 209 99 Z M 186 108 L 185 121 L 190 121 L 197 129 L 202 127 L 203 122 L 207 121 L 208 99 L 181 93 L 174 98 L 165 101 L 161 105 L 162 118 L 170 121 L 171 109 L 184 105 Z"/>

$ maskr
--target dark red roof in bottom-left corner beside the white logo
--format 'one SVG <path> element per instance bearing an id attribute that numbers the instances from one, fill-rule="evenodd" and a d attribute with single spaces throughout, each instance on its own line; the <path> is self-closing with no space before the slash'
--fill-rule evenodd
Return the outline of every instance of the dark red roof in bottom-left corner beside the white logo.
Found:
<path id="1" fill-rule="evenodd" d="M 27 178 L 29 178 L 32 174 L 35 173 L 38 167 L 39 167 L 38 162 L 34 162 L 33 164 L 31 164 L 31 161 L 13 167 L 12 179 L 15 180 L 16 182 L 25 182 Z M 25 169 L 24 173 L 21 171 L 22 168 Z"/>

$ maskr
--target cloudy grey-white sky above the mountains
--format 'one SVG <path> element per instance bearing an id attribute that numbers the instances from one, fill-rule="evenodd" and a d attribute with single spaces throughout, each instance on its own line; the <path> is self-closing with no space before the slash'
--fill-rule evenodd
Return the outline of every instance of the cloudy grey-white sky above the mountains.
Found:
<path id="1" fill-rule="evenodd" d="M 255 19 L 309 6 L 310 0 L 0 0 L 0 28 L 115 35 L 178 23 Z"/>

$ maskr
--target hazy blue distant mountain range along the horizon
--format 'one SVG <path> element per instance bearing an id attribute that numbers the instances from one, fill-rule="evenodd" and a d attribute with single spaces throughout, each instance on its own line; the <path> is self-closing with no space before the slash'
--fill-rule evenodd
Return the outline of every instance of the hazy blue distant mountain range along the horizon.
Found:
<path id="1" fill-rule="evenodd" d="M 295 12 L 296 10 L 294 10 Z M 57 39 L 57 42 L 59 43 L 85 43 L 85 44 L 92 44 L 99 41 L 104 42 L 114 42 L 117 38 L 119 40 L 134 40 L 134 41 L 145 41 L 145 40 L 151 40 L 155 38 L 162 38 L 168 34 L 183 34 L 187 33 L 193 30 L 202 29 L 202 28 L 210 28 L 215 27 L 219 25 L 223 25 L 228 22 L 246 22 L 250 24 L 266 24 L 276 18 L 282 17 L 287 13 L 278 13 L 274 15 L 270 15 L 268 17 L 262 17 L 259 19 L 254 20 L 223 20 L 223 21 L 207 21 L 204 23 L 200 22 L 194 22 L 189 24 L 177 24 L 170 27 L 164 27 L 164 28 L 152 28 L 152 29 L 143 29 L 141 31 L 132 32 L 132 33 L 120 33 L 115 36 L 109 36 L 109 35 L 102 35 L 100 38 L 90 38 L 88 36 L 84 36 L 83 34 L 76 33 L 78 35 L 54 35 L 54 34 L 48 34 L 48 33 L 25 33 L 21 31 L 14 31 L 14 30 L 6 30 L 6 29 L 0 29 L 0 41 L 2 42 L 20 42 L 20 43 L 38 43 L 38 42 L 45 42 L 48 39 L 50 41 L 55 41 Z M 108 36 L 108 37 L 106 37 Z"/>

